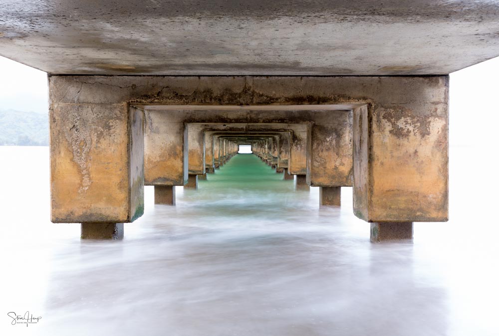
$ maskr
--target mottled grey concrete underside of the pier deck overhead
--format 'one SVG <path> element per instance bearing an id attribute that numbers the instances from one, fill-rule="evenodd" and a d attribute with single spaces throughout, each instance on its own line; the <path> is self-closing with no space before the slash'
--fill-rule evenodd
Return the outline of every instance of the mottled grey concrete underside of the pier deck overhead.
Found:
<path id="1" fill-rule="evenodd" d="M 427 75 L 499 55 L 497 0 L 2 0 L 0 54 L 52 74 Z"/>

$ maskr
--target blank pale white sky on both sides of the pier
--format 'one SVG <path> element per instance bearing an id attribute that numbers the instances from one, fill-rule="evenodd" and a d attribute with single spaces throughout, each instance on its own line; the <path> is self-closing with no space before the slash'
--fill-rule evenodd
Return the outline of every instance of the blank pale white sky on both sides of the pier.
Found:
<path id="1" fill-rule="evenodd" d="M 0 110 L 48 113 L 46 73 L 1 56 L 0 73 Z M 451 145 L 497 148 L 498 75 L 499 57 L 451 74 Z"/>

